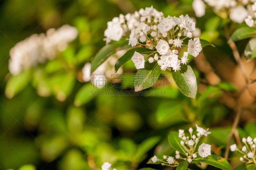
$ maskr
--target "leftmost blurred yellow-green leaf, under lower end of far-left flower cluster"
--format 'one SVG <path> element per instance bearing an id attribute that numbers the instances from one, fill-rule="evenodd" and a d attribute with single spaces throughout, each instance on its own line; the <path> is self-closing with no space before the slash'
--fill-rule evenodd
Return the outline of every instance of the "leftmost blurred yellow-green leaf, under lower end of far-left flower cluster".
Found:
<path id="1" fill-rule="evenodd" d="M 30 78 L 30 70 L 23 70 L 20 74 L 12 76 L 6 84 L 5 96 L 9 99 L 13 98 L 13 96 L 27 87 Z"/>

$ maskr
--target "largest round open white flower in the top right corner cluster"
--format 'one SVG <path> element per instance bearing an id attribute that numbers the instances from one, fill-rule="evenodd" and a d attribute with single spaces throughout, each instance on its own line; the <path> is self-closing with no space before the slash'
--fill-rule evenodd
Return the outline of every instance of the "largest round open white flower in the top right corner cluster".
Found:
<path id="1" fill-rule="evenodd" d="M 229 18 L 237 23 L 242 23 L 247 15 L 248 11 L 244 8 L 244 6 L 239 5 L 231 8 Z"/>

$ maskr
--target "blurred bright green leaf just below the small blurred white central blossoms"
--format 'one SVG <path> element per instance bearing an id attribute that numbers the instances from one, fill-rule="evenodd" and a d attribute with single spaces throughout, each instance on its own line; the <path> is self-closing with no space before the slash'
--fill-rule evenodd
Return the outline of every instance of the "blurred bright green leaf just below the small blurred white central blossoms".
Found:
<path id="1" fill-rule="evenodd" d="M 76 93 L 74 101 L 75 105 L 78 107 L 88 103 L 94 98 L 95 93 L 98 91 L 100 91 L 100 89 L 98 89 L 94 85 L 90 83 L 85 84 Z"/>

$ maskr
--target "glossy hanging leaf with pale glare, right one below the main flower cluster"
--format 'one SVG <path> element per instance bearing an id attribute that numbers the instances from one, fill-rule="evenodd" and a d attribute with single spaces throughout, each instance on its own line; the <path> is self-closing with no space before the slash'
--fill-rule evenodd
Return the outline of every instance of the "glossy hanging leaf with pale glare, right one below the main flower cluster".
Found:
<path id="1" fill-rule="evenodd" d="M 181 65 L 181 70 L 172 72 L 172 77 L 185 96 L 195 98 L 197 92 L 196 76 L 192 68 L 188 65 Z"/>

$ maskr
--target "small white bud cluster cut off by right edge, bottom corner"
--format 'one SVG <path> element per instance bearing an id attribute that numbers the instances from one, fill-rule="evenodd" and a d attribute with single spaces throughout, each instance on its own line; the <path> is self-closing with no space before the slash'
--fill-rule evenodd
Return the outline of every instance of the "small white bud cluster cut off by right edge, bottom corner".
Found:
<path id="1" fill-rule="evenodd" d="M 256 137 L 252 139 L 252 137 L 243 138 L 242 142 L 244 143 L 244 146 L 242 149 L 238 149 L 236 144 L 232 144 L 230 146 L 230 151 L 238 151 L 243 154 L 243 157 L 240 157 L 240 161 L 244 163 L 256 163 L 255 160 L 255 152 L 256 152 Z"/>

